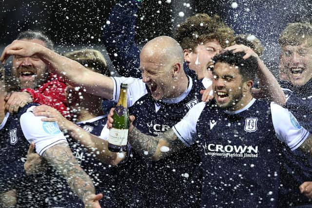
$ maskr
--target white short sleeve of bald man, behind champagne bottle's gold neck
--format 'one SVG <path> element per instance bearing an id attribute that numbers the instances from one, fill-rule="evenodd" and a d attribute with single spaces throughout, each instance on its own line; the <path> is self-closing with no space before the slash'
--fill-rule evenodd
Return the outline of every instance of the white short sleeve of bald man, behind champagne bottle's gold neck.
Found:
<path id="1" fill-rule="evenodd" d="M 147 94 L 145 83 L 142 79 L 133 77 L 111 77 L 114 83 L 114 94 L 112 101 L 118 102 L 120 93 L 120 84 L 128 83 L 127 105 L 131 107 L 140 97 Z"/>

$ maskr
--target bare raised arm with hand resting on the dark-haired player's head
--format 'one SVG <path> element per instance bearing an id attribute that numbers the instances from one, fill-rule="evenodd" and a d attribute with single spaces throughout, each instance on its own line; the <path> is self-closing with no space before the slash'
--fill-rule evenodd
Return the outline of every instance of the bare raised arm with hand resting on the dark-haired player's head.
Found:
<path id="1" fill-rule="evenodd" d="M 274 101 L 282 106 L 285 105 L 286 97 L 282 88 L 260 57 L 251 48 L 245 45 L 234 45 L 227 47 L 226 50 L 233 50 L 233 53 L 245 52 L 246 55 L 243 57 L 245 59 L 251 56 L 256 57 L 258 62 L 257 75 L 259 78 L 259 89 L 252 90 L 253 96 L 255 98 Z"/>

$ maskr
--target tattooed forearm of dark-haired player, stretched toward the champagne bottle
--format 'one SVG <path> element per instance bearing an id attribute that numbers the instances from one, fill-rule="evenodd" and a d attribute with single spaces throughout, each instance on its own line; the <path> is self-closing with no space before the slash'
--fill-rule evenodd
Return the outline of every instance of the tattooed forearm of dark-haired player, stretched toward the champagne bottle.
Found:
<path id="1" fill-rule="evenodd" d="M 153 160 L 160 160 L 186 148 L 172 129 L 160 136 L 149 136 L 141 133 L 134 127 L 128 138 L 132 148 L 137 150 L 142 156 L 150 157 Z"/>

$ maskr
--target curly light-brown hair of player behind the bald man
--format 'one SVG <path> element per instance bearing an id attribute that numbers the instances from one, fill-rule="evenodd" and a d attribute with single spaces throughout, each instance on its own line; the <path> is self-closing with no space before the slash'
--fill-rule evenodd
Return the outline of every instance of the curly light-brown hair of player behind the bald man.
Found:
<path id="1" fill-rule="evenodd" d="M 218 40 L 222 48 L 234 42 L 234 31 L 217 15 L 210 17 L 207 14 L 196 14 L 176 29 L 176 40 L 183 49 L 194 51 L 199 44 L 212 39 Z"/>

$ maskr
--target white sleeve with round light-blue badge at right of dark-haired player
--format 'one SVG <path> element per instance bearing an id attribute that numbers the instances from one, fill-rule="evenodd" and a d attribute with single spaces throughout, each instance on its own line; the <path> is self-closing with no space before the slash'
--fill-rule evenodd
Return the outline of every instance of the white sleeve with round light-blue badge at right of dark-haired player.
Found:
<path id="1" fill-rule="evenodd" d="M 285 142 L 292 151 L 308 138 L 309 132 L 300 126 L 288 109 L 271 103 L 271 114 L 277 138 Z"/>

